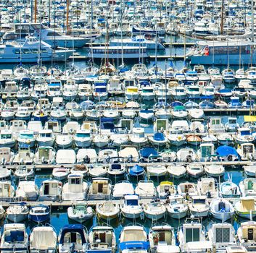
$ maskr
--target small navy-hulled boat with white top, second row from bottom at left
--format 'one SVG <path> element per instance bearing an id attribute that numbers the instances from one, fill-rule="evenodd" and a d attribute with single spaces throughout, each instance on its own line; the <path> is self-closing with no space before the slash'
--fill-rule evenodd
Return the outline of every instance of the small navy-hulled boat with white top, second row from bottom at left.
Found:
<path id="1" fill-rule="evenodd" d="M 50 219 L 50 209 L 48 206 L 42 204 L 31 207 L 29 218 L 36 223 L 44 223 Z"/>

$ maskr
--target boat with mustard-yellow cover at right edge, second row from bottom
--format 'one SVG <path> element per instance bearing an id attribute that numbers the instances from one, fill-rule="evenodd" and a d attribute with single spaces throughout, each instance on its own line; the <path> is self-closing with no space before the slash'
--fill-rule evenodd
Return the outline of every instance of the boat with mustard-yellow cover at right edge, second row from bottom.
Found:
<path id="1" fill-rule="evenodd" d="M 240 197 L 240 200 L 234 203 L 235 212 L 242 218 L 252 220 L 256 216 L 256 204 L 253 197 Z"/>

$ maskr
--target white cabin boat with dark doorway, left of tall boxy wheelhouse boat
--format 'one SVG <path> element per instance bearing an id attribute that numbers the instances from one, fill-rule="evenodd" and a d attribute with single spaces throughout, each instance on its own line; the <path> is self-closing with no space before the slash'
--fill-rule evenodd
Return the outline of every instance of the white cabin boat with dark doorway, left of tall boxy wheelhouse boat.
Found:
<path id="1" fill-rule="evenodd" d="M 62 199 L 62 182 L 54 179 L 42 181 L 39 188 L 39 201 L 56 201 Z"/>

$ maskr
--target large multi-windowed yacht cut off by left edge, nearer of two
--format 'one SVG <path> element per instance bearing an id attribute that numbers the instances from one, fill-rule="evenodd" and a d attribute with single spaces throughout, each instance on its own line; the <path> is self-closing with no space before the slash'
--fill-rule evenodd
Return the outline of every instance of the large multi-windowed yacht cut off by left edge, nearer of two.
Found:
<path id="1" fill-rule="evenodd" d="M 69 49 L 51 49 L 51 46 L 36 37 L 27 37 L 25 40 L 12 40 L 0 46 L 0 63 L 36 63 L 39 57 L 38 48 L 41 47 L 41 61 L 67 61 L 73 54 Z"/>

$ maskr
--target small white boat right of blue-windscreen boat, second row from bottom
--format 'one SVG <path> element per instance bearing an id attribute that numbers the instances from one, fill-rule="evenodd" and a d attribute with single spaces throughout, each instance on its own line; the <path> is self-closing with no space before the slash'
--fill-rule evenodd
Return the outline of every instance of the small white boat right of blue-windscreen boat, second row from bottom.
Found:
<path id="1" fill-rule="evenodd" d="M 163 202 L 150 202 L 144 205 L 144 213 L 146 218 L 151 220 L 160 220 L 165 216 L 166 207 Z"/>

